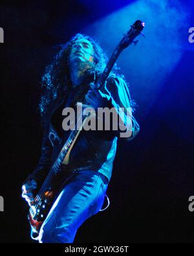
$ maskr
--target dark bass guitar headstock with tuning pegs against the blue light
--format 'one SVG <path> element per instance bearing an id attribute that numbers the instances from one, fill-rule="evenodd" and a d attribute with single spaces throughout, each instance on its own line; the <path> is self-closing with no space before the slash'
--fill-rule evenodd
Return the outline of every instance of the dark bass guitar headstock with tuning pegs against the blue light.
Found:
<path id="1" fill-rule="evenodd" d="M 145 23 L 142 21 L 135 21 L 133 25 L 131 25 L 131 29 L 127 31 L 127 34 L 124 35 L 124 38 L 120 41 L 120 49 L 125 49 L 128 47 L 131 43 L 137 43 L 138 40 L 134 41 L 136 36 L 139 34 L 142 34 L 142 30 L 144 29 Z M 144 35 L 144 34 L 142 34 Z"/>

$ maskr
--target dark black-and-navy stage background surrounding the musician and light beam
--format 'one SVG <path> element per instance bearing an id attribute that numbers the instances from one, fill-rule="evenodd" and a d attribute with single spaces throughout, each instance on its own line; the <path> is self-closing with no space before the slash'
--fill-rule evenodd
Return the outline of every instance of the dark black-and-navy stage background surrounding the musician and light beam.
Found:
<path id="1" fill-rule="evenodd" d="M 0 213 L 0 242 L 32 242 L 21 183 L 40 156 L 39 82 L 45 66 L 59 43 L 132 2 L 1 1 L 0 195 L 5 211 Z M 194 26 L 190 17 L 188 24 Z M 189 27 L 180 61 L 163 81 L 149 114 L 148 96 L 139 88 L 130 90 L 138 103 L 140 134 L 130 143 L 119 141 L 107 191 L 111 206 L 87 220 L 75 242 L 193 242 L 188 198 L 194 195 L 194 43 L 188 43 Z"/>

